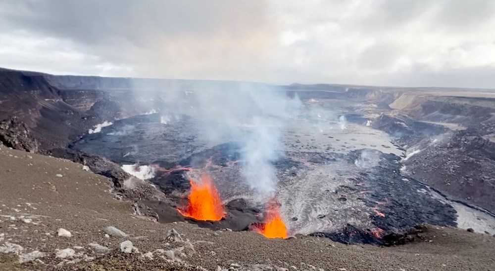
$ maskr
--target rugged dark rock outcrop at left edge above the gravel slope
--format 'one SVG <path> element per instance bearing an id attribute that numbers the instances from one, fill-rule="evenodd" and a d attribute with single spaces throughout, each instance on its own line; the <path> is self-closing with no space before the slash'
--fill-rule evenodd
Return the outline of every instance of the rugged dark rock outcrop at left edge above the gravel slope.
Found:
<path id="1" fill-rule="evenodd" d="M 38 152 L 38 141 L 31 136 L 26 124 L 12 116 L 0 121 L 0 142 L 6 147 L 30 153 Z"/>

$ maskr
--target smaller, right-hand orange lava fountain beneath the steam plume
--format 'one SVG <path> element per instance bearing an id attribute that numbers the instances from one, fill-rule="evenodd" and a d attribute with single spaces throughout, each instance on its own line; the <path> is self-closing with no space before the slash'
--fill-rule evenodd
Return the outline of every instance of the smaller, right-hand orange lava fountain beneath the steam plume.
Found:
<path id="1" fill-rule="evenodd" d="M 254 231 L 268 238 L 287 238 L 287 228 L 280 216 L 277 200 L 272 199 L 268 202 L 263 224 L 254 228 Z"/>

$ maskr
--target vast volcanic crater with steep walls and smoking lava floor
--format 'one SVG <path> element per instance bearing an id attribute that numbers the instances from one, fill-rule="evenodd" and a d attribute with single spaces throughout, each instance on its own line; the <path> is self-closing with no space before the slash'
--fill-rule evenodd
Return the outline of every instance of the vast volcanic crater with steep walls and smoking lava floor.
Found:
<path id="1" fill-rule="evenodd" d="M 237 88 L 234 82 L 12 70 L 0 70 L 0 81 L 0 117 L 8 119 L 0 125 L 4 145 L 88 165 L 111 178 L 116 190 L 123 190 L 126 169 L 164 192 L 167 200 L 127 194 L 162 223 L 379 245 L 411 241 L 423 223 L 495 233 L 495 99 L 485 97 L 491 91 L 464 97 L 455 89 L 269 86 L 301 106 L 279 127 L 270 122 L 276 111 L 263 123 L 205 120 L 195 104 L 201 87 L 223 91 Z M 136 91 L 144 82 L 174 89 L 146 89 L 145 99 Z M 177 90 L 181 95 L 167 96 Z M 236 114 L 215 110 L 219 118 Z M 202 129 L 229 131 L 232 125 L 235 134 L 213 138 Z M 246 182 L 252 146 L 239 135 L 274 130 L 279 140 L 269 147 L 276 159 L 265 166 L 276 182 L 260 194 Z M 199 193 L 196 202 L 210 202 L 214 219 L 192 214 L 199 206 L 190 198 L 195 186 L 206 186 L 208 200 Z M 275 234 L 266 233 L 270 225 Z"/>

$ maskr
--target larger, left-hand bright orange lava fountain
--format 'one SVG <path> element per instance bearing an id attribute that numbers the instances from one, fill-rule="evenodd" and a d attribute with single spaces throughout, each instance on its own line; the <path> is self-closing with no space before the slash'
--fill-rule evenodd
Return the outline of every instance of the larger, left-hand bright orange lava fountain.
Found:
<path id="1" fill-rule="evenodd" d="M 207 174 L 201 176 L 200 182 L 189 180 L 191 192 L 188 196 L 188 205 L 178 210 L 183 216 L 196 220 L 218 221 L 225 215 L 220 195 Z"/>

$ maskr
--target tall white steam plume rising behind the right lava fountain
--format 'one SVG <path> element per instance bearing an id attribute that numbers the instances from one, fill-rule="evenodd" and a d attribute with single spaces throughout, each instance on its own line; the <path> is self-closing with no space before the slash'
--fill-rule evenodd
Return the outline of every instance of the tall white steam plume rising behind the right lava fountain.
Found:
<path id="1" fill-rule="evenodd" d="M 282 155 L 282 131 L 301 105 L 284 92 L 248 83 L 219 84 L 195 91 L 200 131 L 211 142 L 241 142 L 244 177 L 258 195 L 276 189 L 273 162 Z"/>

